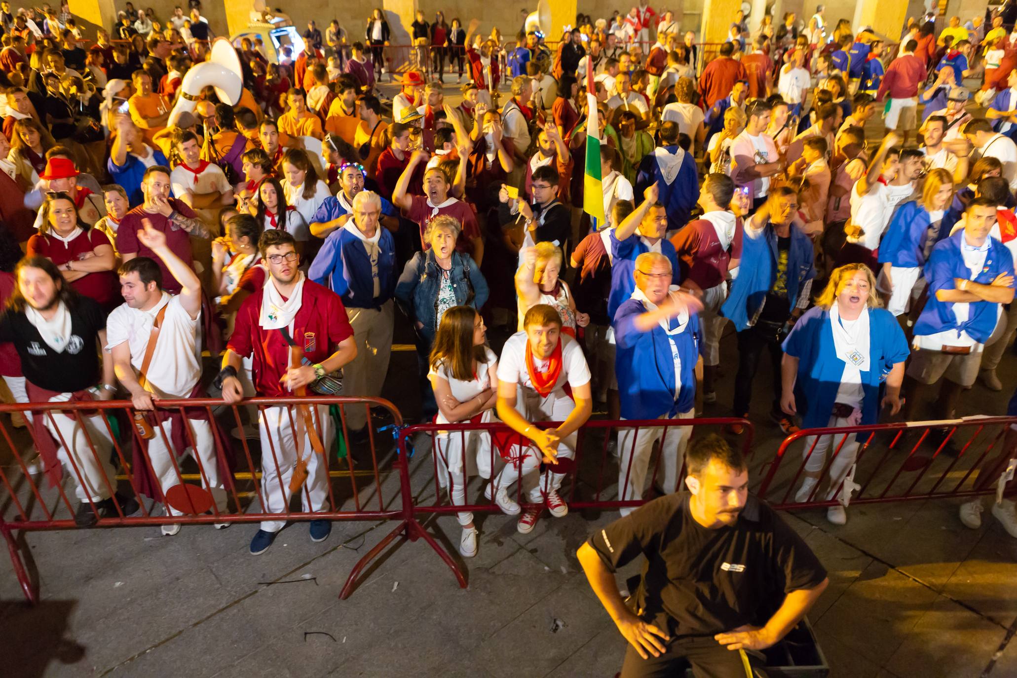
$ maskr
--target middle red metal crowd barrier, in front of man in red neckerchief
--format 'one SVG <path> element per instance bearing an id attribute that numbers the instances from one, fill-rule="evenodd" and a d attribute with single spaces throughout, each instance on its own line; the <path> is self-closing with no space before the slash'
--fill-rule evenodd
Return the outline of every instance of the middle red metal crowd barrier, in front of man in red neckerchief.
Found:
<path id="1" fill-rule="evenodd" d="M 537 424 L 541 428 L 556 426 L 555 422 L 543 422 Z M 746 456 L 751 455 L 753 449 L 754 427 L 752 422 L 745 419 L 735 418 L 711 418 L 711 419 L 651 419 L 634 421 L 608 421 L 590 420 L 577 431 L 575 442 L 575 457 L 572 459 L 559 460 L 554 467 L 545 465 L 547 470 L 553 469 L 555 473 L 565 475 L 562 482 L 560 496 L 569 504 L 570 509 L 607 509 L 616 510 L 623 506 L 640 506 L 649 500 L 647 497 L 629 497 L 626 489 L 619 491 L 618 485 L 627 488 L 630 484 L 642 485 L 643 474 L 634 472 L 633 459 L 637 444 L 640 441 L 640 432 L 647 429 L 659 430 L 659 439 L 654 444 L 653 449 L 657 453 L 651 457 L 651 451 L 646 452 L 647 461 L 654 459 L 652 467 L 647 470 L 649 481 L 646 483 L 649 488 L 659 487 L 664 492 L 674 492 L 681 484 L 684 475 L 681 454 L 677 454 L 674 460 L 673 486 L 668 483 L 664 486 L 661 473 L 663 455 L 659 450 L 667 445 L 675 445 L 678 450 L 683 448 L 691 436 L 700 435 L 704 429 L 714 428 L 720 430 L 721 427 L 739 425 L 743 428 L 740 438 L 742 450 Z M 477 433 L 479 435 L 471 435 Z M 617 433 L 617 458 L 610 451 L 609 442 L 611 434 Z M 431 450 L 431 467 L 434 472 L 434 497 L 431 503 L 425 503 L 424 499 L 417 498 L 413 506 L 415 515 L 421 516 L 421 520 L 428 514 L 450 514 L 458 512 L 499 512 L 501 509 L 495 503 L 495 493 L 500 478 L 500 473 L 496 473 L 498 468 L 504 471 L 508 468 L 515 469 L 513 474 L 515 487 L 512 492 L 515 501 L 521 508 L 542 507 L 542 503 L 534 503 L 524 496 L 523 480 L 527 470 L 523 468 L 526 454 L 517 453 L 513 460 L 502 460 L 501 454 L 497 453 L 496 447 L 507 447 L 508 445 L 519 445 L 521 448 L 533 450 L 528 439 L 515 433 L 506 425 L 500 422 L 492 423 L 464 423 L 464 424 L 422 424 L 418 426 L 408 426 L 400 432 L 399 447 L 401 454 L 411 454 L 415 447 L 425 449 L 423 440 L 414 443 L 415 436 L 422 435 L 429 441 Z M 458 437 L 458 441 L 456 438 Z M 492 444 L 493 441 L 493 444 Z M 472 452 L 472 447 L 476 445 L 477 451 Z M 451 459 L 451 455 L 457 458 Z M 627 460 L 626 460 L 627 459 Z M 471 465 L 471 461 L 473 463 Z M 621 470 L 622 465 L 624 469 Z M 452 467 L 462 468 L 461 472 L 453 471 Z M 476 468 L 474 468 L 474 466 Z M 538 473 L 534 470 L 532 473 Z M 480 476 L 483 483 L 471 483 L 471 479 Z M 446 489 L 442 487 L 443 485 Z M 456 483 L 461 483 L 457 487 Z M 535 484 L 535 483 L 534 483 Z M 507 483 L 505 483 L 507 485 Z M 538 486 L 540 487 L 540 486 Z M 567 491 L 565 488 L 567 487 Z M 543 488 L 546 490 L 546 488 Z M 450 501 L 450 497 L 460 494 L 460 502 Z M 643 490 L 646 491 L 645 489 Z M 483 503 L 471 501 L 468 495 L 484 496 Z M 653 498 L 653 497 L 650 497 Z M 458 565 L 441 552 L 442 559 L 456 573 L 460 585 L 466 588 L 466 578 L 463 576 Z"/>

